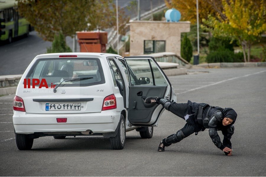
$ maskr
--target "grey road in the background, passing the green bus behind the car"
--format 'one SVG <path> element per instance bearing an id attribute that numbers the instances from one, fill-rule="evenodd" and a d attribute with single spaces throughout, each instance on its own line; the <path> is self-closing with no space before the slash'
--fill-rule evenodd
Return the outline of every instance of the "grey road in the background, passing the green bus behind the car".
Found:
<path id="1" fill-rule="evenodd" d="M 137 16 L 136 10 L 128 11 L 126 8 L 132 0 L 119 0 L 118 5 L 126 11 L 130 17 Z M 115 1 L 114 1 L 115 3 Z M 164 4 L 164 0 L 153 0 L 153 8 Z M 150 0 L 140 1 L 141 14 L 150 10 Z M 67 45 L 73 48 L 73 39 L 66 38 Z M 0 76 L 23 74 L 36 55 L 44 54 L 51 42 L 38 37 L 37 32 L 32 31 L 28 37 L 18 37 L 11 44 L 0 44 Z M 79 51 L 79 45 L 77 45 Z"/>

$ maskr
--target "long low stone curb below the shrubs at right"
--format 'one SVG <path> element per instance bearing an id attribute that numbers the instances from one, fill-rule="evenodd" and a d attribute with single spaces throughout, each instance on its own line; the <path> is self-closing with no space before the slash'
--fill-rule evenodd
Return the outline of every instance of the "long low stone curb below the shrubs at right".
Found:
<path id="1" fill-rule="evenodd" d="M 266 67 L 266 62 L 247 62 L 247 63 L 204 63 L 194 66 L 201 66 L 205 68 L 238 68 L 238 67 Z"/>

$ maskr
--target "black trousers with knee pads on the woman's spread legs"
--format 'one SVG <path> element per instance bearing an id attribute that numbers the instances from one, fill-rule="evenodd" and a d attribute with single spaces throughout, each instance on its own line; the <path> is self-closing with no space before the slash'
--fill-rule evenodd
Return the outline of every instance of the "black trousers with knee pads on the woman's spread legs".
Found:
<path id="1" fill-rule="evenodd" d="M 188 103 L 173 102 L 169 107 L 169 111 L 185 120 L 185 115 L 193 114 L 194 107 L 197 106 L 197 104 L 198 103 L 192 103 L 191 101 L 188 101 Z M 169 146 L 172 143 L 179 142 L 194 132 L 196 132 L 195 127 L 192 124 L 186 123 L 176 134 L 170 135 L 164 139 L 164 145 Z"/>

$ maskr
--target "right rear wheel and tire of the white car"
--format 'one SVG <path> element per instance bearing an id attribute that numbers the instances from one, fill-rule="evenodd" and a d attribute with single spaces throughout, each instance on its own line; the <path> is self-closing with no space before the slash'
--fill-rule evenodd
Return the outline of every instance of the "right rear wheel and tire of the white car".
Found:
<path id="1" fill-rule="evenodd" d="M 118 131 L 115 137 L 110 137 L 111 146 L 113 149 L 120 150 L 125 146 L 126 141 L 126 123 L 125 118 L 121 114 L 120 122 L 118 124 Z"/>

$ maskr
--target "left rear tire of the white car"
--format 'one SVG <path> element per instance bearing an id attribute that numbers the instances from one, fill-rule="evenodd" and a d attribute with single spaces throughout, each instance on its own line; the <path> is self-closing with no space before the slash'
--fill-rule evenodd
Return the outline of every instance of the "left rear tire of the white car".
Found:
<path id="1" fill-rule="evenodd" d="M 30 150 L 33 145 L 33 138 L 30 138 L 29 135 L 16 133 L 16 143 L 19 150 Z"/>

